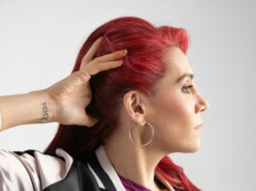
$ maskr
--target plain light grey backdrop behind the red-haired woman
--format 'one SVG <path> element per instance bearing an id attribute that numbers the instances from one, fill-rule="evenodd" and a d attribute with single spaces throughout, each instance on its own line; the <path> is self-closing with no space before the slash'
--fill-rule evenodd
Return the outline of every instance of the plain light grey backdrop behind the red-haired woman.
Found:
<path id="1" fill-rule="evenodd" d="M 210 108 L 202 115 L 200 150 L 170 157 L 202 190 L 253 191 L 255 8 L 254 0 L 0 0 L 0 95 L 40 90 L 70 75 L 82 43 L 112 18 L 183 27 L 195 83 Z M 16 126 L 0 133 L 0 147 L 44 150 L 57 126 Z"/>

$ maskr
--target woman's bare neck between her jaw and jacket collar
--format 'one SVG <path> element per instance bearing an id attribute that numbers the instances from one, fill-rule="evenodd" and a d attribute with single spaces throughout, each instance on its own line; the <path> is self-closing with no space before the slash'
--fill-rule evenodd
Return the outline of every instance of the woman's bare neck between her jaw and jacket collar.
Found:
<path id="1" fill-rule="evenodd" d="M 155 169 L 163 153 L 158 153 L 151 145 L 141 147 L 124 140 L 107 141 L 103 147 L 119 175 L 156 190 Z"/>

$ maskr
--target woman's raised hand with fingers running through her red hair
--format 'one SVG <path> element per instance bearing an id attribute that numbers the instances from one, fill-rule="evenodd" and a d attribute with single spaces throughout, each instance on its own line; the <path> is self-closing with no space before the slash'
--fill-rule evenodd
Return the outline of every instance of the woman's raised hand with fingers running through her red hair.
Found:
<path id="1" fill-rule="evenodd" d="M 122 66 L 122 61 L 118 59 L 127 54 L 127 50 L 119 50 L 92 60 L 101 40 L 102 38 L 98 39 L 90 47 L 78 71 L 44 90 L 55 103 L 53 122 L 85 126 L 98 123 L 99 120 L 88 116 L 85 110 L 92 99 L 89 84 L 91 75 Z"/>

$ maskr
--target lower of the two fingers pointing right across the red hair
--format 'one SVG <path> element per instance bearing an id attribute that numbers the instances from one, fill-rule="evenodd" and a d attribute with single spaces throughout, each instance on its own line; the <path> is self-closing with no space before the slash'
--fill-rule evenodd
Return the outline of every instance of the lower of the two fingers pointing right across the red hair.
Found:
<path id="1" fill-rule="evenodd" d="M 91 68 L 89 71 L 86 71 L 90 73 L 91 75 L 95 75 L 99 73 L 100 71 L 107 70 L 110 68 L 118 68 L 123 65 L 123 61 L 111 61 L 111 62 L 106 62 L 106 63 L 96 63 L 93 65 L 93 68 Z"/>

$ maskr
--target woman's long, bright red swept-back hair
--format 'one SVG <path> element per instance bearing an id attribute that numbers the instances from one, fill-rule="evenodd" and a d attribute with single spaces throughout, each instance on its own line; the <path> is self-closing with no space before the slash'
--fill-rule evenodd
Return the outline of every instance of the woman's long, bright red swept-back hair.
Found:
<path id="1" fill-rule="evenodd" d="M 103 36 L 103 40 L 96 57 L 128 49 L 121 68 L 101 71 L 90 79 L 93 97 L 86 112 L 99 118 L 100 123 L 90 128 L 60 123 L 46 150 L 61 148 L 73 157 L 87 157 L 117 128 L 120 97 L 129 90 L 154 94 L 154 84 L 164 76 L 167 69 L 161 61 L 167 49 L 178 46 L 185 53 L 188 46 L 188 37 L 183 28 L 156 27 L 142 18 L 119 17 L 101 25 L 89 36 L 78 53 L 72 72 L 79 69 L 83 56 L 100 36 Z M 168 155 L 161 159 L 156 171 L 177 190 L 199 190 L 185 177 L 183 168 L 176 165 Z"/>

